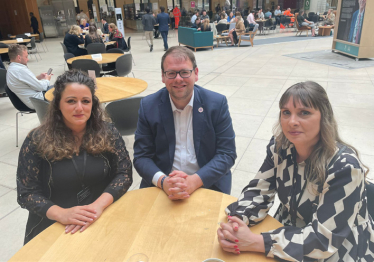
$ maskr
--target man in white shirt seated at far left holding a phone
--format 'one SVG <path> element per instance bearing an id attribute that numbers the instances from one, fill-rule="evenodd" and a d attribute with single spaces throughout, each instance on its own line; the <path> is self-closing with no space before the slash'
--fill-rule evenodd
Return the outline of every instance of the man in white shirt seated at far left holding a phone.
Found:
<path id="1" fill-rule="evenodd" d="M 27 68 L 28 53 L 25 45 L 9 45 L 10 65 L 6 74 L 9 89 L 28 107 L 34 109 L 30 97 L 44 100 L 44 93 L 50 89 L 51 75 L 42 73 L 35 76 Z"/>

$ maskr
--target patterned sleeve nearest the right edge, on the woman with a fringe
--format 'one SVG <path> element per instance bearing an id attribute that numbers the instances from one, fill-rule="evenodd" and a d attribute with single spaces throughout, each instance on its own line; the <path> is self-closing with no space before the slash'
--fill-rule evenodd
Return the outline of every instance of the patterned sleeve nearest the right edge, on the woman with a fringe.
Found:
<path id="1" fill-rule="evenodd" d="M 358 160 L 353 154 L 342 155 L 329 170 L 312 222 L 304 228 L 288 226 L 262 233 L 266 255 L 287 261 L 331 257 L 351 236 L 363 192 L 364 174 Z"/>

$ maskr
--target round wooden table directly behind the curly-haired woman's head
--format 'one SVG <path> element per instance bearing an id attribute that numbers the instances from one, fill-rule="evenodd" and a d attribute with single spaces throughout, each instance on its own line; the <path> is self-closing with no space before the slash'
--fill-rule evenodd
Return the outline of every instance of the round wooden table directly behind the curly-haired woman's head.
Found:
<path id="1" fill-rule="evenodd" d="M 147 82 L 130 77 L 99 77 L 96 78 L 96 96 L 101 103 L 112 102 L 120 99 L 132 97 L 147 89 Z M 48 101 L 53 100 L 53 90 L 45 93 Z"/>

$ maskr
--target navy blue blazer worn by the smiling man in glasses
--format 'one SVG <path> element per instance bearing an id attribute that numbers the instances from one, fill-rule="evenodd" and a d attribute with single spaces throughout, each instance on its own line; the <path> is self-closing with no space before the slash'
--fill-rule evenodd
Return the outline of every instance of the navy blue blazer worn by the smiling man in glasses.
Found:
<path id="1" fill-rule="evenodd" d="M 227 99 L 195 85 L 192 114 L 195 153 L 200 166 L 196 173 L 204 188 L 230 194 L 230 168 L 235 163 L 236 149 Z M 169 92 L 164 87 L 140 103 L 134 143 L 134 167 L 143 178 L 140 188 L 153 186 L 152 178 L 158 171 L 170 174 L 175 143 L 174 117 Z"/>

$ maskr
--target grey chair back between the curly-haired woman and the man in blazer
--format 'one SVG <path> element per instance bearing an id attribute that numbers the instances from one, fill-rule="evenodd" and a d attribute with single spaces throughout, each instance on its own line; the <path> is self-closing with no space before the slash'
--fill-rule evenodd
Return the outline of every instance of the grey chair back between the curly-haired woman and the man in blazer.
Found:
<path id="1" fill-rule="evenodd" d="M 114 126 L 122 136 L 129 136 L 135 133 L 138 124 L 138 111 L 140 100 L 143 97 L 131 97 L 111 102 L 105 108 L 112 119 Z"/>

